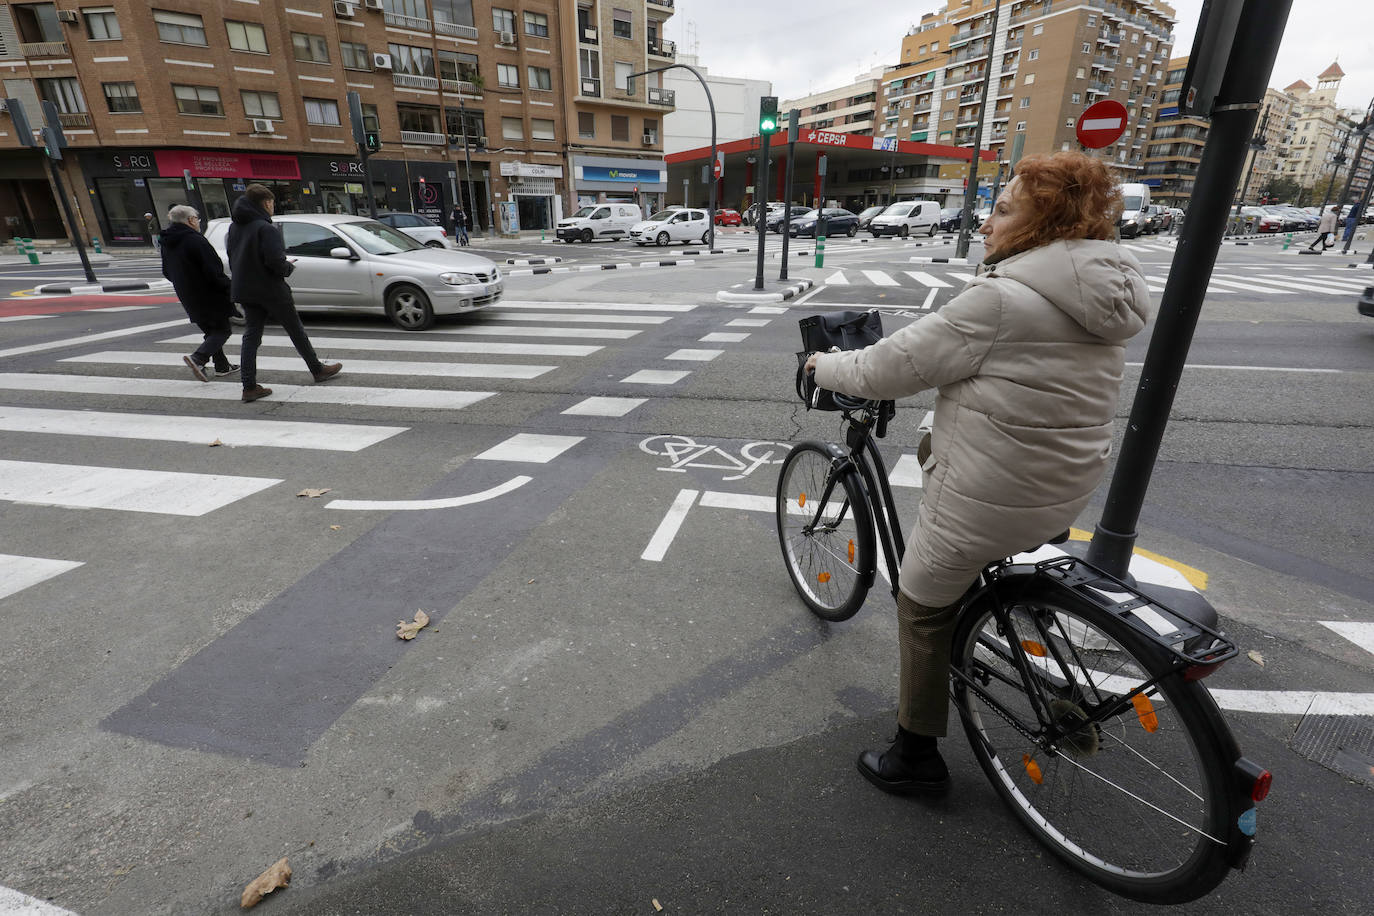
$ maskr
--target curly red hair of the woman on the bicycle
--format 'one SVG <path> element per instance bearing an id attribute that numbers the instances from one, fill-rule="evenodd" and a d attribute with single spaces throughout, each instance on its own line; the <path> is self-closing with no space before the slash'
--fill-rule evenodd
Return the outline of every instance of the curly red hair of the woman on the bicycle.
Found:
<path id="1" fill-rule="evenodd" d="M 1058 239 L 1113 239 L 1121 192 L 1101 159 L 1081 152 L 1028 155 L 1017 162 L 1017 198 L 1032 214 L 999 251 L 1029 251 Z"/>

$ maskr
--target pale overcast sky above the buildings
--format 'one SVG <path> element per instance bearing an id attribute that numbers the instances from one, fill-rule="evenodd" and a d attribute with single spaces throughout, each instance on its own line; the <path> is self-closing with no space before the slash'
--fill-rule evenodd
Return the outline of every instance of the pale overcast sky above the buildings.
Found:
<path id="1" fill-rule="evenodd" d="M 938 0 L 676 0 L 665 33 L 679 54 L 695 49 L 712 73 L 771 80 L 779 99 L 796 99 L 894 63 L 901 36 L 941 5 Z M 1202 0 L 1172 5 L 1178 10 L 1173 54 L 1184 56 Z M 1364 108 L 1374 98 L 1374 3 L 1293 0 L 1270 85 L 1307 80 L 1315 87 L 1316 74 L 1336 59 L 1345 70 L 1337 102 Z"/>

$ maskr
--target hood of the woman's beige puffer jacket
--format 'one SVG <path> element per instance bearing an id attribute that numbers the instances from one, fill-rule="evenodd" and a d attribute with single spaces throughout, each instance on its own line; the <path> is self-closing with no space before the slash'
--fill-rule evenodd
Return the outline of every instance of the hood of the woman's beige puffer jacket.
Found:
<path id="1" fill-rule="evenodd" d="M 1150 319 L 1145 271 L 1116 242 L 1059 239 L 998 262 L 992 273 L 1024 283 L 1107 341 L 1128 341 Z"/>

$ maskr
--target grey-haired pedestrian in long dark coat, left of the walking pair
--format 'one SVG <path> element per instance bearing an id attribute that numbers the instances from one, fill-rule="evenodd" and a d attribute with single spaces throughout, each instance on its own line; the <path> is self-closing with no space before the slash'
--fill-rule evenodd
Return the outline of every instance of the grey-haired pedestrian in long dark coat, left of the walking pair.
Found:
<path id="1" fill-rule="evenodd" d="M 205 334 L 195 353 L 183 356 L 181 361 L 202 382 L 210 380 L 205 367 L 212 358 L 216 375 L 236 372 L 239 367 L 224 356 L 224 342 L 232 332 L 229 316 L 234 313 L 224 262 L 201 235 L 201 216 L 195 207 L 184 203 L 174 206 L 168 211 L 168 228 L 159 233 L 162 276 L 172 280 L 185 316 Z"/>

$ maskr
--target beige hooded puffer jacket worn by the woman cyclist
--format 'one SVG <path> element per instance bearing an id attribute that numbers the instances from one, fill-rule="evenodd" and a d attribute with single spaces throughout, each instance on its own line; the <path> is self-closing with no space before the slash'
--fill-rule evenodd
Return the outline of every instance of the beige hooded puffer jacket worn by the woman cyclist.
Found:
<path id="1" fill-rule="evenodd" d="M 991 560 L 1063 531 L 1106 470 L 1125 342 L 1149 319 L 1139 261 L 1059 240 L 973 279 L 934 314 L 816 361 L 822 387 L 871 398 L 938 389 L 932 457 L 900 586 L 955 602 Z"/>

